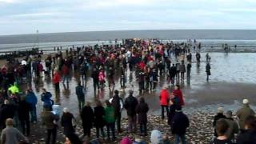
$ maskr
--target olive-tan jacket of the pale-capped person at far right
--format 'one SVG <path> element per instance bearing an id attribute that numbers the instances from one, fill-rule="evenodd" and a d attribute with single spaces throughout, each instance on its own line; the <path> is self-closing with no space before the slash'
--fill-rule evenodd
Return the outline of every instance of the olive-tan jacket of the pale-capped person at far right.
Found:
<path id="1" fill-rule="evenodd" d="M 237 111 L 240 129 L 245 129 L 244 122 L 246 121 L 246 118 L 250 115 L 255 115 L 255 113 L 254 110 L 252 110 L 249 105 L 243 105 L 242 108 Z"/>

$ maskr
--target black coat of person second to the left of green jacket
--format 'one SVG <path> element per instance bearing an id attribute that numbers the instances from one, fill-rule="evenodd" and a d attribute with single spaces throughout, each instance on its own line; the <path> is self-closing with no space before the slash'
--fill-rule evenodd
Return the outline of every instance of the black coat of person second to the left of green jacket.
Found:
<path id="1" fill-rule="evenodd" d="M 94 122 L 94 111 L 90 106 L 84 106 L 81 112 L 82 126 L 92 127 Z"/>

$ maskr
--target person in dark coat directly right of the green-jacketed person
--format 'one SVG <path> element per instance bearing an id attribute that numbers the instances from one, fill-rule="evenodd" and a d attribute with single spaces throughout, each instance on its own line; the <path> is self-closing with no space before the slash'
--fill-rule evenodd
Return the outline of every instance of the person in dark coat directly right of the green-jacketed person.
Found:
<path id="1" fill-rule="evenodd" d="M 121 117 L 122 117 L 122 98 L 120 98 L 118 96 L 118 90 L 114 90 L 114 97 L 112 98 L 112 100 L 110 99 L 111 101 L 111 104 L 112 106 L 114 106 L 114 117 L 115 117 L 115 120 L 116 120 L 116 123 L 117 123 L 117 128 L 118 128 L 118 133 L 121 133 Z"/>

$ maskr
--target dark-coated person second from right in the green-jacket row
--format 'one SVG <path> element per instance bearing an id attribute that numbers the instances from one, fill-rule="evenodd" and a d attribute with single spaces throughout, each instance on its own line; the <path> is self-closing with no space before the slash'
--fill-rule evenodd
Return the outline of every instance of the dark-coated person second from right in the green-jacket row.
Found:
<path id="1" fill-rule="evenodd" d="M 136 106 L 138 105 L 138 100 L 137 98 L 134 98 L 133 96 L 134 91 L 130 90 L 129 91 L 129 96 L 126 98 L 126 101 L 124 103 L 124 107 L 127 110 L 127 115 L 128 115 L 128 131 L 129 133 L 132 132 L 133 130 L 137 130 L 136 122 L 137 122 L 137 116 L 136 116 Z"/>

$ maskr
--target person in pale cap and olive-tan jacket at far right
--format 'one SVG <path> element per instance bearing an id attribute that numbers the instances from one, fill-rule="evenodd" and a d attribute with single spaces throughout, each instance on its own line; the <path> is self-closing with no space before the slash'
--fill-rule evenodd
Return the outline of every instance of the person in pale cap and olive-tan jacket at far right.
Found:
<path id="1" fill-rule="evenodd" d="M 242 100 L 242 108 L 240 108 L 237 111 L 237 117 L 239 118 L 239 126 L 240 126 L 240 130 L 241 132 L 243 132 L 245 130 L 245 126 L 244 126 L 244 122 L 246 120 L 247 117 L 249 117 L 250 115 L 255 115 L 254 110 L 252 110 L 249 106 L 249 100 L 248 99 L 243 99 Z"/>

